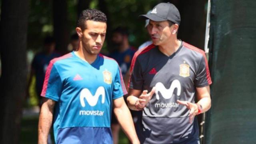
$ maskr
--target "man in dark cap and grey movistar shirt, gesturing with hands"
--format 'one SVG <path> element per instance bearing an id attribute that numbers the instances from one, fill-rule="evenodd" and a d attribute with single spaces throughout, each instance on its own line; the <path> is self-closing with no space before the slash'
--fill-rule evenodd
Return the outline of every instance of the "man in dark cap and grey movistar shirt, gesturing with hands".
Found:
<path id="1" fill-rule="evenodd" d="M 134 55 L 127 98 L 130 109 L 143 110 L 136 124 L 140 142 L 199 144 L 195 116 L 211 106 L 204 51 L 177 39 L 180 13 L 173 4 L 160 3 L 142 17 L 150 20 L 153 44 Z"/>

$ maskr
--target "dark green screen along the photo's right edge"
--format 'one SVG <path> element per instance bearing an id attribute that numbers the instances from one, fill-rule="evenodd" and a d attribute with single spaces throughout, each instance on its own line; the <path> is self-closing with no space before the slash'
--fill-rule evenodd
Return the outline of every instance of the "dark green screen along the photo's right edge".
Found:
<path id="1" fill-rule="evenodd" d="M 256 144 L 256 1 L 211 3 L 206 144 Z"/>

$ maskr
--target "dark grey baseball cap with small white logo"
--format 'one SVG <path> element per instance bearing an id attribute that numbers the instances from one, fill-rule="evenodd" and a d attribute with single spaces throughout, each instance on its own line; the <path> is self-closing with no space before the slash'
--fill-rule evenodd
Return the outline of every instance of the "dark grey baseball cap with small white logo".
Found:
<path id="1" fill-rule="evenodd" d="M 176 6 L 174 6 L 169 2 L 168 3 L 163 2 L 156 5 L 152 9 L 150 14 L 140 15 L 140 17 L 144 19 L 154 20 L 156 22 L 170 20 L 174 24 L 180 25 L 180 12 L 176 8 Z"/>

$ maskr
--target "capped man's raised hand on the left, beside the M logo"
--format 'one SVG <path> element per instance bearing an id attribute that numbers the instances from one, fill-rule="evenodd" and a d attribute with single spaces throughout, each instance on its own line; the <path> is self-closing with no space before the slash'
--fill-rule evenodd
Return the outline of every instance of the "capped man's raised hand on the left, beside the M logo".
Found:
<path id="1" fill-rule="evenodd" d="M 139 109 L 145 108 L 155 92 L 156 92 L 155 87 L 153 87 L 151 92 L 149 93 L 148 93 L 148 90 L 143 90 L 142 94 L 140 95 L 138 101 L 135 104 L 136 107 Z"/>

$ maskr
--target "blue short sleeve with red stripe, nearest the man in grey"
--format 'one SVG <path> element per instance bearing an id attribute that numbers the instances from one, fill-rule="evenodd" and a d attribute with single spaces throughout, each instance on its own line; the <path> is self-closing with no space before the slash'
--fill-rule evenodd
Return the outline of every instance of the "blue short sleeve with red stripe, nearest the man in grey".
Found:
<path id="1" fill-rule="evenodd" d="M 114 90 L 113 90 L 113 96 L 112 96 L 113 100 L 127 94 L 127 91 L 124 85 L 124 80 L 122 78 L 121 70 L 118 64 L 116 65 L 117 65 L 117 71 L 114 79 Z"/>

